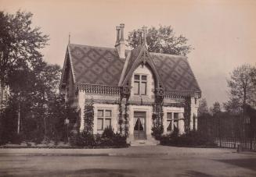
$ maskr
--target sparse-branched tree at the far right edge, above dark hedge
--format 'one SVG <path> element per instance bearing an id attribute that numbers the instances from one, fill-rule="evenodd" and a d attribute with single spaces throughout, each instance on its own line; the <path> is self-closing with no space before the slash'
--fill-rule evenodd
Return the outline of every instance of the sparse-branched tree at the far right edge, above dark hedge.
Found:
<path id="1" fill-rule="evenodd" d="M 256 87 L 252 77 L 253 71 L 254 69 L 251 65 L 244 64 L 234 69 L 230 74 L 230 79 L 227 80 L 230 100 L 226 104 L 226 108 L 230 107 L 230 104 L 236 103 L 243 110 L 246 104 L 256 103 Z"/>

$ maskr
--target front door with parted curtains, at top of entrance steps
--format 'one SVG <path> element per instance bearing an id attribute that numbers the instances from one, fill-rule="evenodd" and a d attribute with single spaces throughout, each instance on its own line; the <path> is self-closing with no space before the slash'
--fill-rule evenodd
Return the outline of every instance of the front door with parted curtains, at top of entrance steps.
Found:
<path id="1" fill-rule="evenodd" d="M 134 112 L 134 138 L 146 140 L 146 112 Z"/>

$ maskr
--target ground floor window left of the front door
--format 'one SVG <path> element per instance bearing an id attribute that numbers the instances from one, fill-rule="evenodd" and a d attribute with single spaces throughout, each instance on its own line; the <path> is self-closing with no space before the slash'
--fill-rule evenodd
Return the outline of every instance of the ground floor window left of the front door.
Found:
<path id="1" fill-rule="evenodd" d="M 103 130 L 111 126 L 112 110 L 98 109 L 97 115 L 97 130 Z"/>

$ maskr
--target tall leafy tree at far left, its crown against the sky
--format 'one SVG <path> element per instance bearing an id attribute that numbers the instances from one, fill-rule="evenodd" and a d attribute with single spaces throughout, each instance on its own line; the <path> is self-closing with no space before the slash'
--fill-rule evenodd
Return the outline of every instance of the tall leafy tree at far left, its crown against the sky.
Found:
<path id="1" fill-rule="evenodd" d="M 0 110 L 9 73 L 17 62 L 33 63 L 41 58 L 39 49 L 49 40 L 39 27 L 31 27 L 32 16 L 31 12 L 0 12 Z"/>

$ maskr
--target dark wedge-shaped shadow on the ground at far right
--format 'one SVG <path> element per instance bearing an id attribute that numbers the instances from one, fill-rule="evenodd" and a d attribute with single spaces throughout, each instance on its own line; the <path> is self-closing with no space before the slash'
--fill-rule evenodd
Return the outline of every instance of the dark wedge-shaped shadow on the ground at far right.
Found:
<path id="1" fill-rule="evenodd" d="M 256 171 L 256 158 L 225 159 L 216 161 Z"/>

